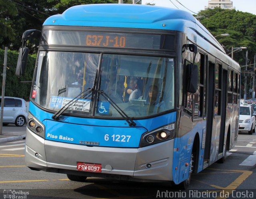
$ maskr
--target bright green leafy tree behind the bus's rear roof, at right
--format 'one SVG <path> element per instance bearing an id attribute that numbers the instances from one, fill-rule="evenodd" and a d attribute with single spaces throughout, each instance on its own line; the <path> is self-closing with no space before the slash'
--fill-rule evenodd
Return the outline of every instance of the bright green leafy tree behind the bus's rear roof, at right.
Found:
<path id="1" fill-rule="evenodd" d="M 231 53 L 232 47 L 247 47 L 248 64 L 252 64 L 256 52 L 256 15 L 214 8 L 201 10 L 197 18 L 214 36 L 223 33 L 230 34 L 230 36 L 216 38 L 220 44 L 224 45 L 227 54 Z M 245 65 L 244 58 L 244 52 L 234 54 L 234 59 L 241 65 Z"/>

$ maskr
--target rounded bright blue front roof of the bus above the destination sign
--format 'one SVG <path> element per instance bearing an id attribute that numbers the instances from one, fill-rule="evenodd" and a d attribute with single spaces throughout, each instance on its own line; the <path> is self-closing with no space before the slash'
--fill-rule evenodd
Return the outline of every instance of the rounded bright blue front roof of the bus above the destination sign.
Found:
<path id="1" fill-rule="evenodd" d="M 185 26 L 194 24 L 192 26 L 195 28 L 195 21 L 190 13 L 171 8 L 132 4 L 88 4 L 74 6 L 61 15 L 51 16 L 43 25 L 149 28 L 184 32 Z"/>

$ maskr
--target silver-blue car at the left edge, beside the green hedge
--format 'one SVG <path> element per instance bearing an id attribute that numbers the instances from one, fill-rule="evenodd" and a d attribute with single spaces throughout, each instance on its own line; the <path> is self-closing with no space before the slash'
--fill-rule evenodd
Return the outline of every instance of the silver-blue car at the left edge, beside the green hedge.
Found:
<path id="1" fill-rule="evenodd" d="M 0 96 L 0 108 L 2 96 Z M 14 123 L 23 126 L 28 118 L 26 101 L 22 98 L 4 97 L 3 125 Z"/>

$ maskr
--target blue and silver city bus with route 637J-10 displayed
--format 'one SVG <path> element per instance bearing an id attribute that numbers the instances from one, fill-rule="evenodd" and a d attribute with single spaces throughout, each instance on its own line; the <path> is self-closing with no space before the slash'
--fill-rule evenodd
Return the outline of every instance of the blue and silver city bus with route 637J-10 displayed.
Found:
<path id="1" fill-rule="evenodd" d="M 40 37 L 28 125 L 32 170 L 188 187 L 238 137 L 240 67 L 188 12 L 74 6 L 27 30 Z"/>

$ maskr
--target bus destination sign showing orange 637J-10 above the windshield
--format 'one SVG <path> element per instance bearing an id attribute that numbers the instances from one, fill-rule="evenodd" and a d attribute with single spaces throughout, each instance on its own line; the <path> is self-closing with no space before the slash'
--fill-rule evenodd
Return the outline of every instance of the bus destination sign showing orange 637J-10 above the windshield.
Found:
<path id="1" fill-rule="evenodd" d="M 41 44 L 174 50 L 174 36 L 160 34 L 44 30 Z"/>

